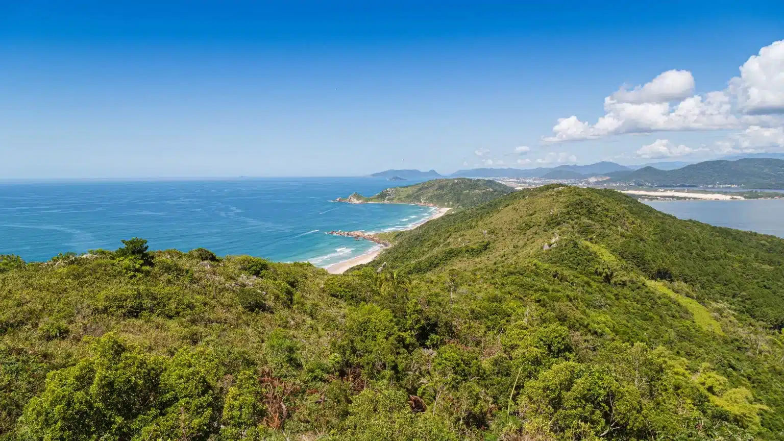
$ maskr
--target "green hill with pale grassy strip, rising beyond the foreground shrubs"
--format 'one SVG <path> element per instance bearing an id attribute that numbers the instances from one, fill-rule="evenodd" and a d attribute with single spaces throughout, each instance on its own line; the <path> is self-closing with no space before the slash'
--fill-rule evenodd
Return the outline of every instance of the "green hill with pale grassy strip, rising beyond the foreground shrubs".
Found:
<path id="1" fill-rule="evenodd" d="M 586 333 L 720 366 L 757 387 L 778 413 L 767 414 L 771 425 L 784 428 L 784 370 L 750 355 L 757 339 L 776 345 L 760 329 L 784 326 L 782 239 L 681 221 L 617 191 L 552 185 L 401 232 L 376 262 L 408 274 L 483 274 L 486 289 L 542 296 Z M 548 275 L 554 286 L 530 282 Z"/>

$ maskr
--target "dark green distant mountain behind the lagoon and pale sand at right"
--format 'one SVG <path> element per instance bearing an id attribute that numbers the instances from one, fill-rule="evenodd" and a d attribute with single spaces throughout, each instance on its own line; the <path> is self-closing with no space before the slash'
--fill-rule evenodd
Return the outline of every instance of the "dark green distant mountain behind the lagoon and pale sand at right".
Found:
<path id="1" fill-rule="evenodd" d="M 621 176 L 616 174 L 609 182 L 648 187 L 738 185 L 743 188 L 784 188 L 784 161 L 706 161 L 674 170 L 660 170 L 648 166 Z"/>

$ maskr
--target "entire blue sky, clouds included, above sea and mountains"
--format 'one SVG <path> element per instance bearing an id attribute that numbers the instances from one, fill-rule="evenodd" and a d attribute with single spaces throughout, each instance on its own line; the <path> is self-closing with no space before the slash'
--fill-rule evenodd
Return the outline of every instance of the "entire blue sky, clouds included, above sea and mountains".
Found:
<path id="1" fill-rule="evenodd" d="M 784 4 L 587 3 L 0 2 L 0 178 L 784 150 Z"/>

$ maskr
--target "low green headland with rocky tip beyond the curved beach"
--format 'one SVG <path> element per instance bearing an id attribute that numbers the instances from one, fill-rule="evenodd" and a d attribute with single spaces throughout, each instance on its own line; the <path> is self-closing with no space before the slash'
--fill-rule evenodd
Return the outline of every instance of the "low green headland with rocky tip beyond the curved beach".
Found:
<path id="1" fill-rule="evenodd" d="M 406 187 L 387 188 L 377 195 L 365 197 L 354 193 L 348 199 L 338 199 L 354 203 L 413 203 L 445 208 L 477 206 L 498 199 L 514 191 L 507 185 L 495 180 L 434 179 Z"/>

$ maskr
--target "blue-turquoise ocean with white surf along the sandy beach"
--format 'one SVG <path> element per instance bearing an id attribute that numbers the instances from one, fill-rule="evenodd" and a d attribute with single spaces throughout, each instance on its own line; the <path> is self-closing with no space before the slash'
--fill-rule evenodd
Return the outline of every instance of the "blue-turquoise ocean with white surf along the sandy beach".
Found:
<path id="1" fill-rule="evenodd" d="M 203 246 L 218 255 L 327 266 L 373 244 L 325 231 L 400 229 L 432 213 L 328 202 L 395 184 L 372 178 L 0 183 L 0 253 L 46 261 L 66 251 L 115 250 L 121 239 L 138 236 L 153 250 Z"/>

